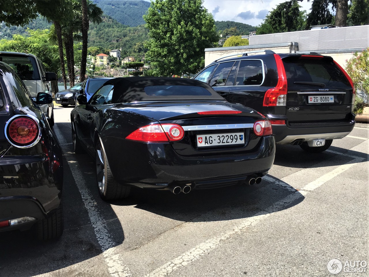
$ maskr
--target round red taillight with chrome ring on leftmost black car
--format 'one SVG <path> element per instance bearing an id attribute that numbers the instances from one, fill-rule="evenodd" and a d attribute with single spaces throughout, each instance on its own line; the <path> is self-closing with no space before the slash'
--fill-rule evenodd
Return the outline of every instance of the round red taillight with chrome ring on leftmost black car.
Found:
<path id="1" fill-rule="evenodd" d="M 37 118 L 27 115 L 13 116 L 5 124 L 5 134 L 9 143 L 18 148 L 32 147 L 40 139 Z"/>

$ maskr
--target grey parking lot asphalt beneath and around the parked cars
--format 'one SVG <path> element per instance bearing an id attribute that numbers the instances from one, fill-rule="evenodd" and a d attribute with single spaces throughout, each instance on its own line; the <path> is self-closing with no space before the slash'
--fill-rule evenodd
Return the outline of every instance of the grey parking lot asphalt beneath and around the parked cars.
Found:
<path id="1" fill-rule="evenodd" d="M 92 158 L 72 151 L 71 110 L 55 107 L 53 128 L 65 158 L 64 234 L 2 233 L 1 277 L 332 276 L 331 259 L 369 262 L 368 124 L 320 154 L 277 145 L 259 185 L 133 189 L 108 203 Z M 369 276 L 368 266 L 338 276 Z"/>

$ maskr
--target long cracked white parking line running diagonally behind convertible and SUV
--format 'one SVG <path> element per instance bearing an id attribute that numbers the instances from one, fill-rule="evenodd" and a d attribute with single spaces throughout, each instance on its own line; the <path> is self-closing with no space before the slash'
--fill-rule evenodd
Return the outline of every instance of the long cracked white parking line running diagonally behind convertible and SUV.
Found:
<path id="1" fill-rule="evenodd" d="M 210 252 L 215 247 L 219 246 L 222 242 L 229 239 L 232 235 L 235 233 L 241 232 L 243 229 L 254 226 L 261 220 L 267 218 L 272 213 L 280 211 L 287 206 L 291 205 L 292 202 L 296 201 L 297 199 L 300 199 L 303 196 L 306 196 L 308 193 L 314 191 L 314 189 L 317 189 L 321 185 L 323 185 L 325 182 L 331 180 L 332 178 L 336 177 L 337 175 L 341 174 L 342 172 L 348 170 L 352 166 L 356 165 L 357 163 L 361 162 L 362 160 L 365 160 L 365 158 L 361 157 L 355 157 L 351 155 L 347 155 L 344 153 L 339 153 L 335 151 L 330 151 L 332 153 L 337 153 L 341 155 L 345 155 L 348 157 L 354 158 L 354 160 L 349 161 L 348 163 L 344 165 L 340 165 L 339 167 L 335 168 L 331 172 L 328 172 L 327 174 L 321 176 L 320 178 L 316 179 L 313 182 L 310 182 L 307 184 L 303 189 L 296 191 L 292 186 L 286 184 L 283 181 L 278 181 L 270 176 L 265 176 L 264 179 L 266 181 L 272 182 L 274 184 L 281 185 L 282 187 L 290 190 L 295 191 L 293 194 L 290 194 L 289 196 L 285 197 L 281 201 L 275 202 L 273 205 L 266 208 L 264 211 L 256 213 L 255 216 L 252 216 L 251 218 L 247 218 L 241 222 L 238 226 L 232 228 L 228 232 L 223 233 L 220 236 L 214 237 L 213 239 L 207 240 L 204 243 L 200 243 L 199 245 L 195 246 L 193 249 L 181 254 L 180 256 L 176 257 L 175 259 L 169 261 L 168 263 L 164 264 L 163 266 L 159 267 L 158 269 L 152 271 L 151 273 L 147 274 L 146 277 L 165 277 L 171 272 L 187 266 L 192 261 L 195 261 L 197 259 L 200 259 L 201 256 L 204 254 Z M 310 170 L 310 168 L 306 168 L 306 170 Z M 301 172 L 302 171 L 302 172 Z M 301 170 L 300 174 L 304 176 L 304 171 Z"/>

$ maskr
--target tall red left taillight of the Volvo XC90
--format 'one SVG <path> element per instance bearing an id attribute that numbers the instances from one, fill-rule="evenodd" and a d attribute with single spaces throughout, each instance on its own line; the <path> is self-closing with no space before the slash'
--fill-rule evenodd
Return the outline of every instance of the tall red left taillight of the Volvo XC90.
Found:
<path id="1" fill-rule="evenodd" d="M 287 76 L 282 59 L 274 54 L 277 64 L 278 82 L 275 88 L 268 89 L 264 96 L 263 106 L 286 106 L 287 102 Z"/>

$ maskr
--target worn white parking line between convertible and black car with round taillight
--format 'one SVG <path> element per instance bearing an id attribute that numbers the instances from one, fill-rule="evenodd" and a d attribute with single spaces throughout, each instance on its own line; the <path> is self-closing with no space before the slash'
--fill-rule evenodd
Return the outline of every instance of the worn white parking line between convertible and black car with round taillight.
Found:
<path id="1" fill-rule="evenodd" d="M 54 125 L 54 133 L 58 137 L 60 144 L 65 145 L 66 140 L 63 137 L 57 124 Z M 111 235 L 108 232 L 105 220 L 100 215 L 98 209 L 96 208 L 96 201 L 90 193 L 90 189 L 87 187 L 86 182 L 83 178 L 83 174 L 80 171 L 78 163 L 71 159 L 71 156 L 63 153 L 66 158 L 70 171 L 72 172 L 73 178 L 75 179 L 79 193 L 81 194 L 83 204 L 85 204 L 87 213 L 90 218 L 90 222 L 94 228 L 97 242 L 101 246 L 101 251 L 105 258 L 105 262 L 108 266 L 108 271 L 110 276 L 113 277 L 125 277 L 130 276 L 130 269 L 123 264 L 123 261 L 118 259 L 118 254 L 115 253 L 113 248 L 115 243 L 111 240 Z"/>

